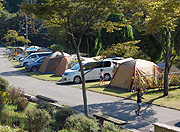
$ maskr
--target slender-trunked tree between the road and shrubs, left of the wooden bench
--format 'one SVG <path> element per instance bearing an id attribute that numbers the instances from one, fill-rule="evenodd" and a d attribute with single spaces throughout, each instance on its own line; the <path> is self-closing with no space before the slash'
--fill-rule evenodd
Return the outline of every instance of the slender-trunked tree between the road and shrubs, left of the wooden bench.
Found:
<path id="1" fill-rule="evenodd" d="M 22 7 L 27 13 L 33 13 L 36 17 L 45 19 L 47 27 L 59 27 L 71 36 L 80 65 L 84 112 L 88 116 L 85 74 L 79 47 L 87 30 L 101 23 L 101 18 L 105 18 L 111 11 L 116 11 L 116 4 L 109 0 L 42 0 L 41 3 Z"/>

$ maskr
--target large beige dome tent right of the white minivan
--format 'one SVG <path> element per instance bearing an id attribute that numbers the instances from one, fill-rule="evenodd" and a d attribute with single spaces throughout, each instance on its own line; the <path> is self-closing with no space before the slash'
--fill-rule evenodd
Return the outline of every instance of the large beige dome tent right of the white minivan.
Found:
<path id="1" fill-rule="evenodd" d="M 118 66 L 109 86 L 130 90 L 133 81 L 137 84 L 137 77 L 143 76 L 144 83 L 150 84 L 150 75 L 157 78 L 158 74 L 159 68 L 155 63 L 142 59 L 130 59 Z"/>

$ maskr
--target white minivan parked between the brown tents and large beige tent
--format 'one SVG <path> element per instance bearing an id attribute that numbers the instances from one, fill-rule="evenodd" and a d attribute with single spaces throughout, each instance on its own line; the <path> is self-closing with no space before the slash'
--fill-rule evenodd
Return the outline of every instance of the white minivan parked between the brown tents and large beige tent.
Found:
<path id="1" fill-rule="evenodd" d="M 112 78 L 112 71 L 114 70 L 114 64 L 111 61 L 94 61 L 94 62 L 82 62 L 85 80 L 98 80 L 100 79 L 100 69 L 104 69 L 104 80 L 110 80 Z M 67 82 L 80 83 L 81 71 L 79 63 L 75 64 L 71 69 L 67 69 L 62 75 L 62 79 Z"/>

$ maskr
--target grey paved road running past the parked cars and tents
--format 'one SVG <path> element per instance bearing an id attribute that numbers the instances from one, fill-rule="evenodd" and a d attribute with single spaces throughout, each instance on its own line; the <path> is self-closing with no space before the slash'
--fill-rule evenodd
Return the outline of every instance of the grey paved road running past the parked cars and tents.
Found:
<path id="1" fill-rule="evenodd" d="M 5 48 L 0 46 L 0 76 L 7 79 L 10 85 L 23 88 L 32 95 L 44 95 L 58 101 L 59 104 L 69 105 L 76 110 L 83 111 L 82 91 L 68 84 L 42 81 L 26 76 L 15 68 L 3 54 Z M 165 122 L 171 125 L 180 123 L 180 111 L 143 104 L 142 116 L 136 116 L 136 102 L 113 96 L 87 91 L 88 108 L 90 114 L 103 113 L 118 119 L 128 121 L 125 126 L 148 132 L 152 123 Z M 177 104 L 179 105 L 179 104 Z"/>

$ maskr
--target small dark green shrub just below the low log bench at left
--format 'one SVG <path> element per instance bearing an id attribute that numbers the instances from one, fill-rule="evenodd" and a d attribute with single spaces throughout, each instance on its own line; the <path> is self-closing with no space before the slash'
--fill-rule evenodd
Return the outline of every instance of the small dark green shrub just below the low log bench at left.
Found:
<path id="1" fill-rule="evenodd" d="M 41 102 L 36 105 L 36 108 L 46 110 L 51 116 L 54 113 L 54 107 L 48 102 Z"/>

